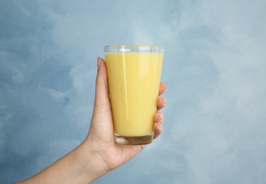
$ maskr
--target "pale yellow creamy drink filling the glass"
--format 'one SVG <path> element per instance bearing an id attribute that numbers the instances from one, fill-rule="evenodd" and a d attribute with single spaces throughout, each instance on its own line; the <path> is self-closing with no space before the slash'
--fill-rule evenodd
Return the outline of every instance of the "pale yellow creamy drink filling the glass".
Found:
<path id="1" fill-rule="evenodd" d="M 154 133 L 163 52 L 105 52 L 115 134 Z"/>

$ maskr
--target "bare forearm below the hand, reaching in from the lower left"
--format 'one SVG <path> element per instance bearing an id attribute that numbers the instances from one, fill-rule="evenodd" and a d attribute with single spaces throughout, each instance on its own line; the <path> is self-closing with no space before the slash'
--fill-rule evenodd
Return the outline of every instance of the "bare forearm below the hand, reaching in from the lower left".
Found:
<path id="1" fill-rule="evenodd" d="M 91 183 L 103 176 L 103 160 L 83 142 L 69 154 L 22 183 Z"/>

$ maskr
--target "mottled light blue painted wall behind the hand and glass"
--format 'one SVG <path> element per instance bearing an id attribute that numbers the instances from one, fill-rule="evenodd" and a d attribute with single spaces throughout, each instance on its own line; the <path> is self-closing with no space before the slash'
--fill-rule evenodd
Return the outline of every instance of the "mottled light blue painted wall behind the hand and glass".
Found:
<path id="1" fill-rule="evenodd" d="M 86 137 L 103 46 L 164 45 L 164 132 L 95 183 L 266 183 L 266 1 L 0 0 L 0 183 Z"/>

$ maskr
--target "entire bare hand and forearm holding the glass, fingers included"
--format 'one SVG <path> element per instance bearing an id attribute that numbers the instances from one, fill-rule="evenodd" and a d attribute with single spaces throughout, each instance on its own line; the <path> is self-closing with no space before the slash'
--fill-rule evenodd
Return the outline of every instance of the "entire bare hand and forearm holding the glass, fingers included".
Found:
<path id="1" fill-rule="evenodd" d="M 161 83 L 158 110 L 166 105 L 165 98 L 161 96 L 165 90 L 166 84 Z M 157 111 L 154 116 L 154 139 L 163 131 L 163 119 L 163 113 Z M 105 61 L 98 57 L 96 96 L 88 136 L 76 149 L 51 166 L 18 183 L 91 183 L 122 166 L 142 149 L 144 145 L 129 146 L 115 143 Z"/>

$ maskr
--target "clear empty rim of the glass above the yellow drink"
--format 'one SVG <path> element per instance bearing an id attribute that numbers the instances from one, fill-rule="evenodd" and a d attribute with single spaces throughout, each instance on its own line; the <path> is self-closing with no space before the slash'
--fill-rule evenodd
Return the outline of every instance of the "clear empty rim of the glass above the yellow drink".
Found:
<path id="1" fill-rule="evenodd" d="M 105 52 L 163 52 L 161 45 L 107 45 L 103 47 Z"/>

